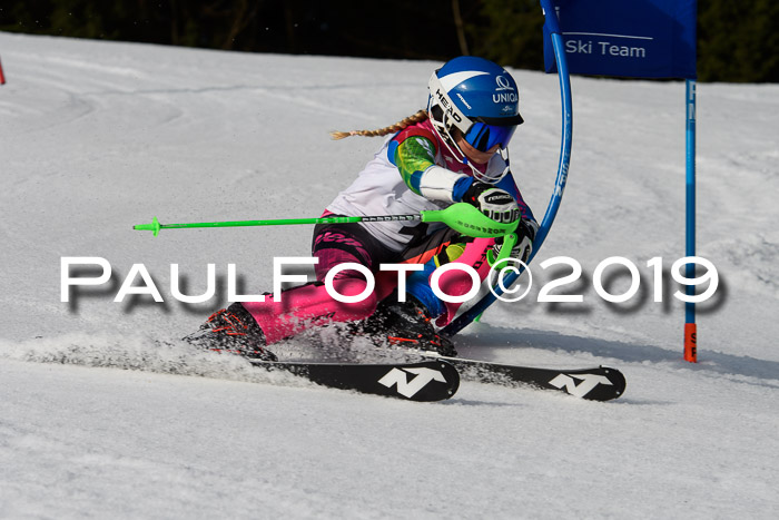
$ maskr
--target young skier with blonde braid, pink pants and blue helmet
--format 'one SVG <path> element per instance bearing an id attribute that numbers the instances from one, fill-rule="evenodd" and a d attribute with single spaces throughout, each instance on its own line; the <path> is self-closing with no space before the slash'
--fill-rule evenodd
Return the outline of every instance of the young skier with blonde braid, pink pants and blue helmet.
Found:
<path id="1" fill-rule="evenodd" d="M 526 261 L 539 226 L 509 168 L 509 141 L 523 122 L 516 82 L 492 61 L 460 57 L 432 75 L 428 89 L 427 110 L 378 130 L 333 134 L 336 139 L 392 136 L 325 215 L 406 215 L 464 202 L 494 220 L 520 219 L 512 256 Z M 433 321 L 445 325 L 458 305 L 435 296 L 430 275 L 436 266 L 461 262 L 484 279 L 486 252 L 500 251 L 500 242 L 420 222 L 318 225 L 313 239 L 316 282 L 286 290 L 278 301 L 266 294 L 264 302 L 234 303 L 185 340 L 275 361 L 267 345 L 312 326 L 351 322 L 382 341 L 456 355 Z M 361 264 L 375 276 L 375 290 L 362 302 L 342 303 L 326 291 L 325 276 L 344 263 Z M 379 272 L 381 264 L 393 263 L 424 264 L 423 271 L 407 275 L 405 301 L 396 291 L 398 274 Z M 367 283 L 358 271 L 344 269 L 335 275 L 333 287 L 353 296 L 363 294 Z M 452 295 L 465 294 L 471 283 L 460 269 L 440 278 L 441 288 Z"/>

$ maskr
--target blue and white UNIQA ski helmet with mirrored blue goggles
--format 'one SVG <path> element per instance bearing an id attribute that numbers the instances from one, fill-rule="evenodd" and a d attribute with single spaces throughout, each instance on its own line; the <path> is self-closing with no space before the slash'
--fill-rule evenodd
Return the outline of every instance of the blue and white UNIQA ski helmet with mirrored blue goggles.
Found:
<path id="1" fill-rule="evenodd" d="M 507 158 L 509 141 L 523 122 L 519 89 L 509 71 L 484 58 L 461 56 L 433 72 L 428 89 L 431 122 L 458 160 L 467 164 L 454 140 L 455 128 L 480 151 L 499 145 Z"/>

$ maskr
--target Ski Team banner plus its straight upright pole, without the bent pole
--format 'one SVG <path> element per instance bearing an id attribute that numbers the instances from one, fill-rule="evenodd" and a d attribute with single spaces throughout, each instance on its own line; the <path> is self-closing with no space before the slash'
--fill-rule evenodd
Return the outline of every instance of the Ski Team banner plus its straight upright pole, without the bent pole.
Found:
<path id="1" fill-rule="evenodd" d="M 541 0 L 553 9 L 559 35 L 544 26 L 544 65 L 555 72 L 562 37 L 570 73 L 683 78 L 687 85 L 687 257 L 696 256 L 697 0 Z M 551 6 L 550 6 L 551 4 Z M 693 278 L 694 264 L 686 274 Z M 688 296 L 694 295 L 692 285 Z M 696 305 L 684 304 L 684 360 L 698 361 Z"/>

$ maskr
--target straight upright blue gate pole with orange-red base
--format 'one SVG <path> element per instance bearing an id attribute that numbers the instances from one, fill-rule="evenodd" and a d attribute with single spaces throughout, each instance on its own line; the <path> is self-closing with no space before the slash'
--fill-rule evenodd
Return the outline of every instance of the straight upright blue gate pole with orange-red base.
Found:
<path id="1" fill-rule="evenodd" d="M 696 80 L 687 80 L 687 256 L 696 256 Z M 696 264 L 688 263 L 684 276 L 696 277 Z M 696 294 L 696 286 L 687 285 L 687 295 Z M 696 304 L 684 303 L 684 360 L 698 362 L 698 330 Z"/>

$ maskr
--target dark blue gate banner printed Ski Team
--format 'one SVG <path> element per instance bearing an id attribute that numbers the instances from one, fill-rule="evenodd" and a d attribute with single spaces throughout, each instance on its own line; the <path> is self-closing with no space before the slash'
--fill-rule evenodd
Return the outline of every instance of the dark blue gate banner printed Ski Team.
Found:
<path id="1" fill-rule="evenodd" d="M 697 0 L 552 0 L 571 73 L 696 79 Z M 544 28 L 544 66 L 556 71 Z"/>

